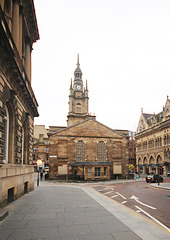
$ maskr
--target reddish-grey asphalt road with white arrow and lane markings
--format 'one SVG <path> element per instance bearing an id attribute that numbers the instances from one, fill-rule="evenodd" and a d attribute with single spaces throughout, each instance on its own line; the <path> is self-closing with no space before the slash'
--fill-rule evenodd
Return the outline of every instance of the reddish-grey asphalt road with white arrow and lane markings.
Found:
<path id="1" fill-rule="evenodd" d="M 93 188 L 156 224 L 170 228 L 170 190 L 152 188 L 146 182 L 95 185 Z"/>

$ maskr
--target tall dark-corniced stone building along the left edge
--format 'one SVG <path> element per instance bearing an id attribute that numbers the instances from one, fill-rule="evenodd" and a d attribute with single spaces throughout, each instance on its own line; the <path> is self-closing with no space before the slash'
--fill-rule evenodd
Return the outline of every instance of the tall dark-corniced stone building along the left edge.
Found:
<path id="1" fill-rule="evenodd" d="M 0 206 L 34 189 L 31 52 L 39 39 L 33 0 L 0 0 Z"/>

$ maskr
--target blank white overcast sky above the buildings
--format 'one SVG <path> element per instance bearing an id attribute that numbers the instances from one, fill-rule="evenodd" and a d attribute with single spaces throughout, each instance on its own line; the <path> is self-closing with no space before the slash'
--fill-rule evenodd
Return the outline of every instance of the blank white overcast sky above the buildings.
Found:
<path id="1" fill-rule="evenodd" d="M 159 113 L 170 95 L 169 0 L 34 0 L 40 40 L 32 51 L 35 125 L 67 126 L 79 54 L 89 113 L 136 131 L 141 108 Z"/>

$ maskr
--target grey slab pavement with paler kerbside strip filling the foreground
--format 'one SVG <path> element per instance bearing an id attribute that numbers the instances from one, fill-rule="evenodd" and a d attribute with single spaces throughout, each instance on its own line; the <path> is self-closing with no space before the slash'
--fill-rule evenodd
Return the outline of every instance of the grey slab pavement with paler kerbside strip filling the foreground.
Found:
<path id="1" fill-rule="evenodd" d="M 151 185 L 170 189 L 170 183 Z M 42 181 L 3 210 L 9 215 L 0 221 L 1 240 L 170 239 L 170 229 L 96 192 L 90 184 Z"/>

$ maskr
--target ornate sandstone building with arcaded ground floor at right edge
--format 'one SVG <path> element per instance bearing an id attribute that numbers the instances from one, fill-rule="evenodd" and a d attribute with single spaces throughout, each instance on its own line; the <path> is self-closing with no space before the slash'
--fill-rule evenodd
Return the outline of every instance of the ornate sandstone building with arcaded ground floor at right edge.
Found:
<path id="1" fill-rule="evenodd" d="M 170 100 L 158 114 L 141 112 L 136 134 L 138 171 L 167 176 L 170 172 Z"/>

